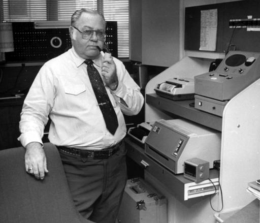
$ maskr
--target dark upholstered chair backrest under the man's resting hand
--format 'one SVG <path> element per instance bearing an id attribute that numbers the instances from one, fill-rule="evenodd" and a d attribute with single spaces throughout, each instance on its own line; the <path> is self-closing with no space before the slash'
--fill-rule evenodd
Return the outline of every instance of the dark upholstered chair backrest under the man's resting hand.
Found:
<path id="1" fill-rule="evenodd" d="M 49 173 L 25 172 L 23 147 L 0 151 L 0 222 L 89 223 L 76 210 L 57 148 L 45 143 Z"/>

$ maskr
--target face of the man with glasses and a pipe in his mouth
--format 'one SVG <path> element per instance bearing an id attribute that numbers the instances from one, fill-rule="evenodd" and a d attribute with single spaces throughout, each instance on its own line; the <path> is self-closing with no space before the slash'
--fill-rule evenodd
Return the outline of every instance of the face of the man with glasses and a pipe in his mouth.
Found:
<path id="1" fill-rule="evenodd" d="M 85 12 L 81 14 L 74 26 L 80 31 L 93 29 L 105 32 L 106 29 L 104 20 L 100 17 L 100 15 L 92 15 Z M 70 27 L 70 34 L 72 37 L 73 46 L 79 56 L 84 59 L 94 59 L 98 57 L 100 54 L 98 47 L 103 49 L 105 41 L 99 40 L 95 32 L 88 40 L 85 40 L 76 28 Z"/>

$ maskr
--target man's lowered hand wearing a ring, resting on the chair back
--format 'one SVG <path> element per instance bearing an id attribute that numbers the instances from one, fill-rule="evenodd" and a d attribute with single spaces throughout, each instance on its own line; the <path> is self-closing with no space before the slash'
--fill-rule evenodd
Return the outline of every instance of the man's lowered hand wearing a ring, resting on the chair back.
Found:
<path id="1" fill-rule="evenodd" d="M 26 146 L 25 170 L 34 175 L 37 179 L 44 179 L 44 174 L 48 173 L 45 152 L 42 144 L 31 142 Z"/>

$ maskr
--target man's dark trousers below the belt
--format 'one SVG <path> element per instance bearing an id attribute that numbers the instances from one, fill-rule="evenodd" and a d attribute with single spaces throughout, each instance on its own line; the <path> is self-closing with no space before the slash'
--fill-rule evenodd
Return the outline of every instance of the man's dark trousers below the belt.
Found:
<path id="1" fill-rule="evenodd" d="M 108 159 L 62 153 L 61 160 L 77 210 L 97 223 L 115 223 L 127 179 L 124 143 Z"/>

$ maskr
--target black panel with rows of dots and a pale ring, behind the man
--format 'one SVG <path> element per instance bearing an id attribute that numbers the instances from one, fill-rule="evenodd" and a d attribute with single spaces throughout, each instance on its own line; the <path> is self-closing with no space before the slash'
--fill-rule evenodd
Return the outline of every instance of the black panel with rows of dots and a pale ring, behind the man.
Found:
<path id="1" fill-rule="evenodd" d="M 34 22 L 13 22 L 14 52 L 6 62 L 47 61 L 72 47 L 69 28 L 35 28 Z M 117 57 L 117 22 L 107 21 L 106 42 Z"/>

